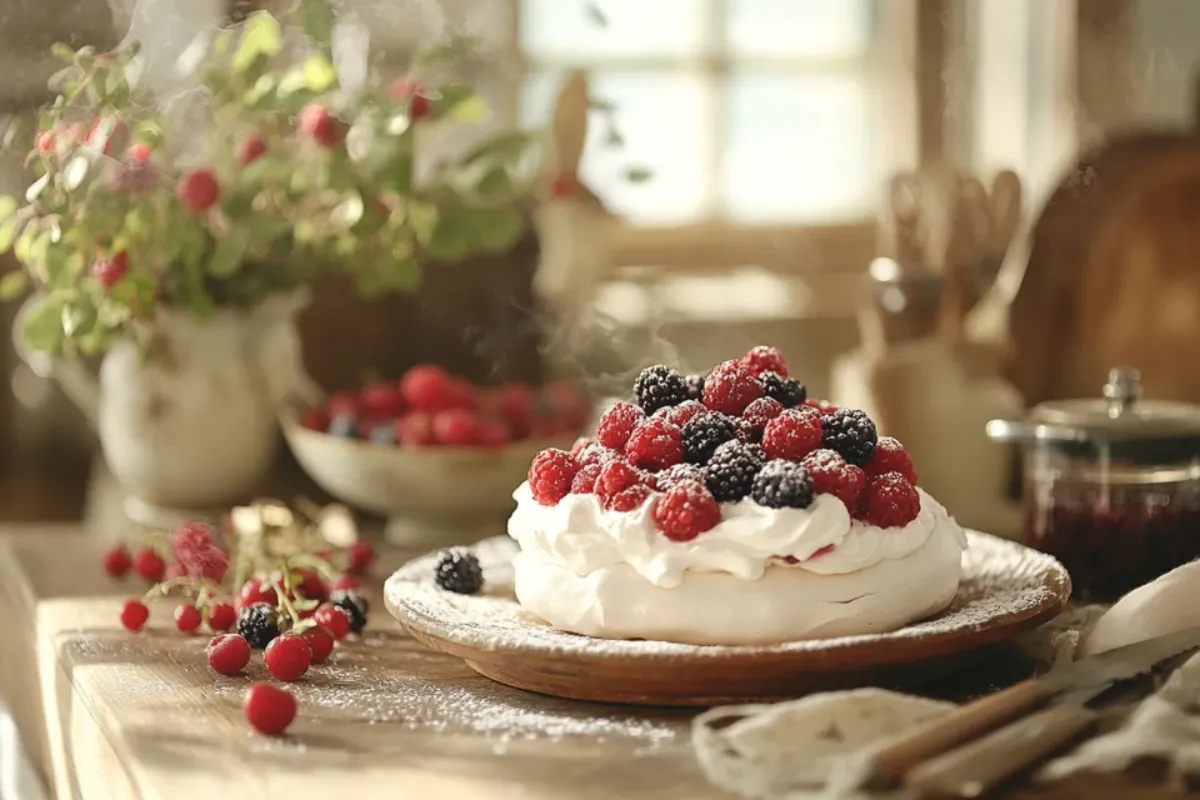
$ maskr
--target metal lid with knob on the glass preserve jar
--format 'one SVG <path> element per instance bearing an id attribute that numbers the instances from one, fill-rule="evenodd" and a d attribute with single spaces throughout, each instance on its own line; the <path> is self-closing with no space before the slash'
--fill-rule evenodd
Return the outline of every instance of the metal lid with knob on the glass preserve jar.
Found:
<path id="1" fill-rule="evenodd" d="M 1141 375 L 1115 367 L 1104 397 L 1042 403 L 1020 420 L 992 420 L 994 441 L 1043 445 L 1140 463 L 1200 456 L 1200 407 L 1141 399 Z"/>

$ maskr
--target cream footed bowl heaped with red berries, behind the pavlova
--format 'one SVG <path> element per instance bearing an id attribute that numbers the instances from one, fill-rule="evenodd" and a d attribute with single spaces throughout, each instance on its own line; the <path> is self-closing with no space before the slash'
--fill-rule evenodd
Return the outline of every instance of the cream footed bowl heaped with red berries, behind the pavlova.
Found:
<path id="1" fill-rule="evenodd" d="M 318 486 L 386 517 L 389 537 L 412 543 L 503 529 L 530 459 L 570 447 L 590 420 L 592 402 L 570 384 L 476 386 L 426 365 L 281 422 Z"/>

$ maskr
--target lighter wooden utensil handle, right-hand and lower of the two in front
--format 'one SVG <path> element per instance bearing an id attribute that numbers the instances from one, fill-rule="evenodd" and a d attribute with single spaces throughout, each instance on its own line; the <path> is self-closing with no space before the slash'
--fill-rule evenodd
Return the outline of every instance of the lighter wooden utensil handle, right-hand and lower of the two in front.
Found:
<path id="1" fill-rule="evenodd" d="M 1055 705 L 925 762 L 905 786 L 922 796 L 978 798 L 1079 738 L 1098 717 L 1082 705 Z"/>

